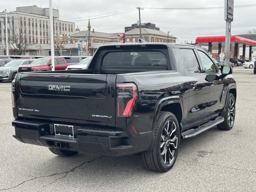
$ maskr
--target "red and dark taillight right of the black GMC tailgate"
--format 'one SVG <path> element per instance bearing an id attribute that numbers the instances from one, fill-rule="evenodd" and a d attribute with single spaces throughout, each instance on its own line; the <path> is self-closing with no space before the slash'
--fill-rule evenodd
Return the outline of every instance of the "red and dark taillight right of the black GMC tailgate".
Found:
<path id="1" fill-rule="evenodd" d="M 133 83 L 117 84 L 116 113 L 118 117 L 130 116 L 137 99 L 137 87 Z"/>

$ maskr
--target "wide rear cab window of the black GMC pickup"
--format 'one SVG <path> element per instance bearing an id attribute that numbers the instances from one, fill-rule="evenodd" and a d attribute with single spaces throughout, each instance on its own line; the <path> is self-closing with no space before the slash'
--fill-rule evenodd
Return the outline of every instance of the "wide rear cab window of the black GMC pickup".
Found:
<path id="1" fill-rule="evenodd" d="M 159 51 L 109 52 L 104 56 L 102 66 L 162 66 L 167 68 L 167 59 Z"/>

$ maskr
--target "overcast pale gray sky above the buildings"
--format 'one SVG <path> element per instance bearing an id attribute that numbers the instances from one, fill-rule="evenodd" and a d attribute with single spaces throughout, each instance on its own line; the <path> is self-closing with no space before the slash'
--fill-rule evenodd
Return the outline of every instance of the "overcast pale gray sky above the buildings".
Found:
<path id="1" fill-rule="evenodd" d="M 255 0 L 234 0 L 236 5 L 255 4 Z M 0 0 L 2 9 L 13 11 L 16 6 L 49 7 L 48 0 Z M 194 8 L 224 6 L 224 0 L 53 0 L 54 8 L 60 10 L 60 19 L 74 21 L 80 29 L 86 30 L 87 17 L 91 16 L 92 28 L 100 32 L 124 32 L 138 20 L 138 10 L 105 18 L 92 19 L 95 15 L 115 12 L 132 7 Z M 79 19 L 77 19 L 79 18 Z M 141 10 L 141 22 L 152 22 L 163 32 L 178 37 L 179 42 L 194 42 L 196 36 L 224 35 L 224 9 L 210 10 Z M 234 8 L 232 34 L 243 34 L 256 28 L 256 6 Z"/>

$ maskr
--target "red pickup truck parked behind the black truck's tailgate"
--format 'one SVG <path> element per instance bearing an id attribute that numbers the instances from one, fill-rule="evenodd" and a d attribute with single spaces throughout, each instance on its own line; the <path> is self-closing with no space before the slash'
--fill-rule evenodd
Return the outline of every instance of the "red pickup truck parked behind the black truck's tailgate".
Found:
<path id="1" fill-rule="evenodd" d="M 54 58 L 55 70 L 65 70 L 67 68 L 66 60 L 62 57 Z M 22 65 L 19 67 L 18 72 L 30 71 L 51 71 L 52 61 L 50 57 L 38 58 L 29 65 Z"/>

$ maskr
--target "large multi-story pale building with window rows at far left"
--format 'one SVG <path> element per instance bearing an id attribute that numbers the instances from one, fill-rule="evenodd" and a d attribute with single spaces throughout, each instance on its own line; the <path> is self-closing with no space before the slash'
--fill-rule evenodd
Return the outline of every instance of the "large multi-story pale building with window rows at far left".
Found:
<path id="1" fill-rule="evenodd" d="M 54 17 L 54 35 L 69 36 L 75 31 L 75 24 L 73 22 L 66 22 L 59 19 L 59 10 L 53 9 Z M 10 44 L 10 51 L 12 44 L 15 41 L 25 41 L 28 46 L 26 52 L 30 55 L 36 55 L 38 48 L 42 44 L 43 47 L 50 48 L 50 18 L 49 8 L 40 8 L 36 5 L 16 7 L 16 11 L 7 13 L 8 23 L 8 42 Z M 0 13 L 0 46 L 6 44 L 5 39 L 5 13 Z M 16 40 L 19 38 L 19 40 Z M 45 50 L 46 55 L 49 50 Z M 16 54 L 16 53 L 14 53 Z"/>

